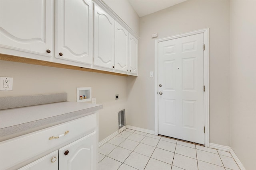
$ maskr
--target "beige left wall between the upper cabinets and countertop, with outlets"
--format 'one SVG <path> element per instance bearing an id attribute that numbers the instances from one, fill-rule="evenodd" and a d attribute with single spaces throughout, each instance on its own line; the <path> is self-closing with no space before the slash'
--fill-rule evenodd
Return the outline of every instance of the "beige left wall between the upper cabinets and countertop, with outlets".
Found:
<path id="1" fill-rule="evenodd" d="M 76 102 L 77 87 L 92 87 L 92 97 L 103 104 L 99 112 L 99 141 L 118 130 L 118 111 L 126 109 L 126 77 L 0 61 L 0 75 L 13 77 L 13 90 L 0 96 L 68 93 Z M 115 100 L 115 94 L 119 99 Z"/>

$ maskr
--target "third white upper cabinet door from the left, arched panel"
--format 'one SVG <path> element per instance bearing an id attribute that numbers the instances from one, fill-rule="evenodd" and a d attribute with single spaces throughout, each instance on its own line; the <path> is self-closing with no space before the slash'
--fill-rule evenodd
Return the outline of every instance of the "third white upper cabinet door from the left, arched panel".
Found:
<path id="1" fill-rule="evenodd" d="M 115 21 L 94 4 L 94 66 L 114 68 Z"/>

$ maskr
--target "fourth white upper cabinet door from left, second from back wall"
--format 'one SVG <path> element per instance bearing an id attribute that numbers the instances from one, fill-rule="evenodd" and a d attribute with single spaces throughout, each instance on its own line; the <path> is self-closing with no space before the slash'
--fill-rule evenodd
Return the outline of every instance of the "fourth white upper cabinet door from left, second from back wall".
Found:
<path id="1" fill-rule="evenodd" d="M 115 70 L 128 72 L 128 31 L 115 25 Z"/>

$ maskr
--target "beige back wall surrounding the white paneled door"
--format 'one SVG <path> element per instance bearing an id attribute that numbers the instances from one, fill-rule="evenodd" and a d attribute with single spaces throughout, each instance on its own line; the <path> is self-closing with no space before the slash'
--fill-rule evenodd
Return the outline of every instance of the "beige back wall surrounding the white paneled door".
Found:
<path id="1" fill-rule="evenodd" d="M 229 1 L 186 1 L 140 18 L 138 78 L 128 78 L 127 123 L 154 130 L 154 40 L 210 28 L 210 143 L 230 146 Z"/>

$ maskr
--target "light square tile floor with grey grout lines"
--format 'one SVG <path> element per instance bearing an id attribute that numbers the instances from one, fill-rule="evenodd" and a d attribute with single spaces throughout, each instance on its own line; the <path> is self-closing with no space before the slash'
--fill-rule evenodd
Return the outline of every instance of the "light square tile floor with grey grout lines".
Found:
<path id="1" fill-rule="evenodd" d="M 99 170 L 240 170 L 229 152 L 126 129 L 99 148 Z"/>

